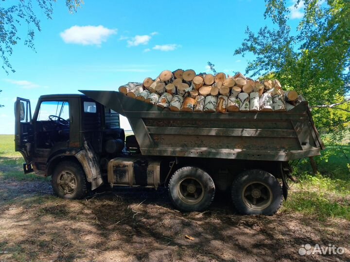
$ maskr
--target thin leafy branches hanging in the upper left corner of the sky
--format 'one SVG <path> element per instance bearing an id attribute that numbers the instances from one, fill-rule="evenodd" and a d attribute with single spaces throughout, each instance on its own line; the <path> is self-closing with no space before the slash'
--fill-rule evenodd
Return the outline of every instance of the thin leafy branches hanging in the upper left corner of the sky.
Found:
<path id="1" fill-rule="evenodd" d="M 33 49 L 35 31 L 41 31 L 40 20 L 37 18 L 34 8 L 39 10 L 48 18 L 52 19 L 53 3 L 56 0 L 13 0 L 10 4 L 0 6 L 0 56 L 3 61 L 2 69 L 15 72 L 12 68 L 9 57 L 13 53 L 13 47 L 18 44 L 21 37 L 18 28 L 22 23 L 27 26 L 27 35 L 24 45 Z M 2 0 L 4 2 L 4 0 Z M 15 3 L 14 3 L 15 2 Z M 34 5 L 33 5 L 34 2 Z M 66 6 L 70 13 L 77 11 L 77 8 L 84 3 L 83 0 L 66 0 Z"/>

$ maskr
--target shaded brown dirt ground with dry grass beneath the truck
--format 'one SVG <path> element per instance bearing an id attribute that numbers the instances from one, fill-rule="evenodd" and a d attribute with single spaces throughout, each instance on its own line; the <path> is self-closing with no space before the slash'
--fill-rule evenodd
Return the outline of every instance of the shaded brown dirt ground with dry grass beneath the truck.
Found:
<path id="1" fill-rule="evenodd" d="M 1 180 L 0 261 L 350 261 L 346 220 L 241 216 L 229 203 L 222 195 L 207 212 L 180 213 L 164 190 L 105 187 L 63 200 L 49 181 Z M 298 254 L 329 243 L 345 254 Z"/>

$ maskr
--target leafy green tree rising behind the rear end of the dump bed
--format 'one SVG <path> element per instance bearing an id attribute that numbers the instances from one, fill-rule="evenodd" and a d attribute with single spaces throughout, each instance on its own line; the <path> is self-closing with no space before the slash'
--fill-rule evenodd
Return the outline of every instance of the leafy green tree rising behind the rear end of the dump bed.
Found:
<path id="1" fill-rule="evenodd" d="M 313 108 L 316 125 L 341 138 L 350 121 L 350 1 L 297 0 L 304 16 L 291 33 L 290 8 L 285 0 L 265 0 L 267 26 L 247 37 L 235 55 L 250 52 L 246 73 L 251 77 L 277 78 L 285 89 L 302 93 Z"/>

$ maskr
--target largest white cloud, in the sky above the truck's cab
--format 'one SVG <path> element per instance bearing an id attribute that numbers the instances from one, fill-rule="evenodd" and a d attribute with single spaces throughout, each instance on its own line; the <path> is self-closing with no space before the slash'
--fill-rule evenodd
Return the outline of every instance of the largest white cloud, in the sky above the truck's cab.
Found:
<path id="1" fill-rule="evenodd" d="M 67 44 L 78 45 L 96 45 L 100 46 L 107 38 L 116 34 L 117 29 L 108 29 L 102 25 L 99 26 L 72 26 L 61 32 L 63 41 Z"/>

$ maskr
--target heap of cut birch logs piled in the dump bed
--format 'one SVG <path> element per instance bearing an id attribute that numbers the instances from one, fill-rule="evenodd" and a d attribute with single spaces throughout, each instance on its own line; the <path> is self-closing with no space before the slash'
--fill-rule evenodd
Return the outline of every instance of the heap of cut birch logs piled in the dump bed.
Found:
<path id="1" fill-rule="evenodd" d="M 176 112 L 282 112 L 304 100 L 296 91 L 283 91 L 277 79 L 254 81 L 241 73 L 196 75 L 192 69 L 164 70 L 156 79 L 128 82 L 119 92 Z"/>

